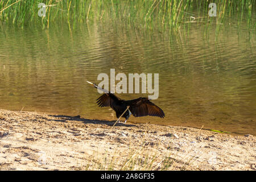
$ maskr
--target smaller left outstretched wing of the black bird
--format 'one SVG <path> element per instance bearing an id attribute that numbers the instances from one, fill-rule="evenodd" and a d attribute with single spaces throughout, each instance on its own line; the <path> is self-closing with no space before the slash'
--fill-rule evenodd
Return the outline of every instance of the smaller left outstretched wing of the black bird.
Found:
<path id="1" fill-rule="evenodd" d="M 113 104 L 121 100 L 119 97 L 115 96 L 113 93 L 104 93 L 101 97 L 97 98 L 97 104 L 100 107 L 113 107 Z"/>

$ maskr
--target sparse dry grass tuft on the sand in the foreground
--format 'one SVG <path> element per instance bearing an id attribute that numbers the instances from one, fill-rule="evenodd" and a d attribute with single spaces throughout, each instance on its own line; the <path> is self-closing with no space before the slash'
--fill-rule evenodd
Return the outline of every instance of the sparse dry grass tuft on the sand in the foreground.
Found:
<path id="1" fill-rule="evenodd" d="M 144 143 L 145 144 L 145 143 Z M 198 160 L 205 150 L 200 154 L 193 154 L 193 150 L 183 154 L 180 151 L 148 151 L 144 144 L 137 150 L 127 148 L 128 154 L 119 154 L 119 151 L 105 154 L 94 153 L 84 158 L 81 169 L 85 170 L 118 170 L 118 171 L 169 171 L 174 169 L 187 170 L 192 163 L 201 164 Z M 79 166 L 79 164 L 77 164 Z"/>

